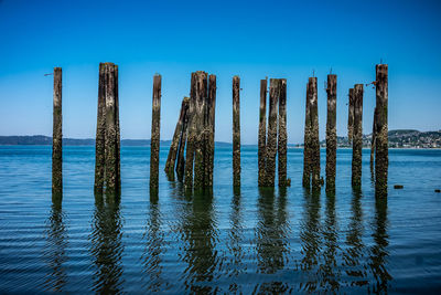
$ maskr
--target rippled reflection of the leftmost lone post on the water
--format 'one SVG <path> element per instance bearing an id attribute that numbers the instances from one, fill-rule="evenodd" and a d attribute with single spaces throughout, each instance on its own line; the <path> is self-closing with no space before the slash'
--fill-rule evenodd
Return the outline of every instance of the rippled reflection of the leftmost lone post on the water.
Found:
<path id="1" fill-rule="evenodd" d="M 47 244 L 43 255 L 51 270 L 46 275 L 44 289 L 51 293 L 63 292 L 67 283 L 67 271 L 64 264 L 67 261 L 66 247 L 68 243 L 62 199 L 61 193 L 52 194 L 51 213 L 44 232 Z"/>

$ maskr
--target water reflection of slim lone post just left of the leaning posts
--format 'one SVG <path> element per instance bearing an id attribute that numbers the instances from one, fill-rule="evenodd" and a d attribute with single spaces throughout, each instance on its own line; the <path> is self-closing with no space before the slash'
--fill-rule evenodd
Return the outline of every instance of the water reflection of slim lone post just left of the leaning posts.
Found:
<path id="1" fill-rule="evenodd" d="M 164 234 L 161 231 L 161 213 L 158 199 L 151 198 L 149 204 L 149 220 L 143 235 L 146 250 L 142 255 L 143 272 L 148 275 L 144 278 L 148 293 L 163 291 L 165 282 L 162 280 L 162 259 Z"/>

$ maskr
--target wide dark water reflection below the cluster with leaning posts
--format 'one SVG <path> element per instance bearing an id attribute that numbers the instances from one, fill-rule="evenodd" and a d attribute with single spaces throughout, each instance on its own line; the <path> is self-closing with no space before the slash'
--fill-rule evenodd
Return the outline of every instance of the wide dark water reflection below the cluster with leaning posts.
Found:
<path id="1" fill-rule="evenodd" d="M 185 289 L 191 293 L 215 293 L 215 271 L 219 253 L 216 250 L 218 230 L 215 219 L 213 194 L 194 193 L 183 204 L 181 231 L 184 241 Z"/>

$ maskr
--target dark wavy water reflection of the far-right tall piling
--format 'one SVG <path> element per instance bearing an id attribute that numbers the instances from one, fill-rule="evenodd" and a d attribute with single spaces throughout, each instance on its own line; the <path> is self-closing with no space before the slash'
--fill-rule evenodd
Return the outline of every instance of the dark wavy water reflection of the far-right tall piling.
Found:
<path id="1" fill-rule="evenodd" d="M 375 220 L 373 222 L 374 245 L 370 249 L 370 272 L 374 275 L 375 283 L 373 285 L 374 293 L 387 293 L 389 282 L 392 276 L 387 270 L 387 257 L 389 252 L 389 235 L 387 233 L 387 198 L 385 196 L 375 196 Z"/>

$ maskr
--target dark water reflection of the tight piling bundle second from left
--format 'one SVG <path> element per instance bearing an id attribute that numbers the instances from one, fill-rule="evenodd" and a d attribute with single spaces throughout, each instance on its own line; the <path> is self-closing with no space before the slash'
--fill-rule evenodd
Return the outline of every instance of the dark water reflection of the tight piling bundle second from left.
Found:
<path id="1" fill-rule="evenodd" d="M 123 252 L 120 197 L 95 194 L 95 212 L 90 240 L 90 256 L 96 266 L 93 289 L 97 293 L 122 292 Z"/>

